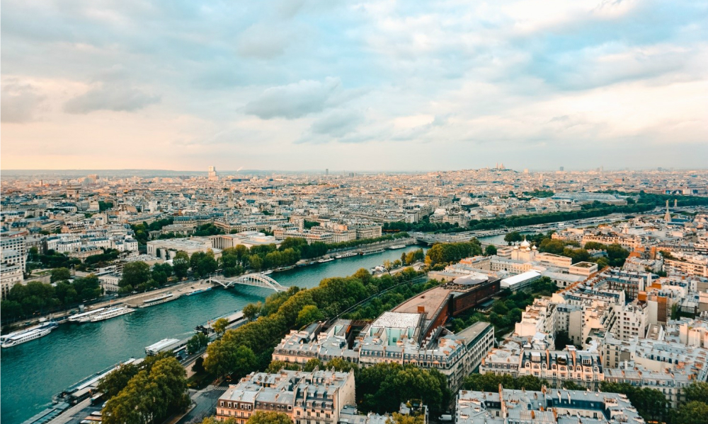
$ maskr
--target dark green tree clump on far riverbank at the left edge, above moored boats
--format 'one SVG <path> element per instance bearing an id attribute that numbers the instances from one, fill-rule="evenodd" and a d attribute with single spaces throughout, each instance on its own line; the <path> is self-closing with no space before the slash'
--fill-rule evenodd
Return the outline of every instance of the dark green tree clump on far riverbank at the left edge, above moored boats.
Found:
<path id="1" fill-rule="evenodd" d="M 70 277 L 69 269 L 57 268 L 52 271 L 52 283 L 56 286 L 41 281 L 13 285 L 6 300 L 0 302 L 2 320 L 45 314 L 103 294 L 98 277 L 91 275 L 69 281 Z"/>

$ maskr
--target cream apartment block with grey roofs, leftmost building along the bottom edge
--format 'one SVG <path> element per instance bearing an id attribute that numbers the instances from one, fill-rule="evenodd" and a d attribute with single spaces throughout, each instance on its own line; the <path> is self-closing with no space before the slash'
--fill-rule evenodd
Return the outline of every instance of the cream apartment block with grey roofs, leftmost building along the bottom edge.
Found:
<path id="1" fill-rule="evenodd" d="M 285 413 L 295 424 L 337 424 L 355 406 L 354 372 L 251 372 L 219 397 L 216 419 L 245 424 L 256 411 Z"/>

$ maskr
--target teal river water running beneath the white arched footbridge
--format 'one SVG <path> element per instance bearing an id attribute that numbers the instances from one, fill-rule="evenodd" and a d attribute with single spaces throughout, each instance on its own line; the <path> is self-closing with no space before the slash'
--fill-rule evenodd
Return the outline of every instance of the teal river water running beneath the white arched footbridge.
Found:
<path id="1" fill-rule="evenodd" d="M 282 285 L 310 288 L 323 278 L 348 276 L 387 259 L 400 259 L 402 252 L 418 248 L 337 259 L 270 276 Z M 62 324 L 48 336 L 3 349 L 0 420 L 3 424 L 22 423 L 42 411 L 53 395 L 80 379 L 127 358 L 142 358 L 145 346 L 162 338 L 186 338 L 195 326 L 263 300 L 270 293 L 246 286 L 210 290 L 103 322 Z"/>

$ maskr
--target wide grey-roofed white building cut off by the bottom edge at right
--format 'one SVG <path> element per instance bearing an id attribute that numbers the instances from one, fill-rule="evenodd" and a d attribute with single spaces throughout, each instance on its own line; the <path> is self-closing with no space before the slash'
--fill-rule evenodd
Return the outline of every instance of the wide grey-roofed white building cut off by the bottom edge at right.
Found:
<path id="1" fill-rule="evenodd" d="M 455 424 L 644 424 L 627 396 L 598 391 L 511 390 L 457 394 Z"/>

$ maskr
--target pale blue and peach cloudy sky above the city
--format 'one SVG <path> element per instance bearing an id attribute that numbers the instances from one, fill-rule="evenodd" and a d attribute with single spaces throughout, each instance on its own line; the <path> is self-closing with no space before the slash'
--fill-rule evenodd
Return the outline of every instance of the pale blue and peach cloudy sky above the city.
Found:
<path id="1" fill-rule="evenodd" d="M 704 0 L 3 0 L 1 168 L 708 167 Z"/>

